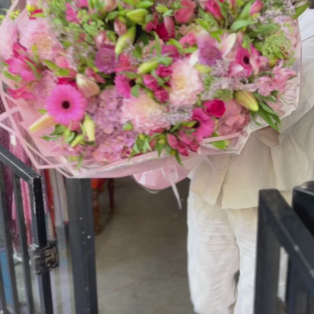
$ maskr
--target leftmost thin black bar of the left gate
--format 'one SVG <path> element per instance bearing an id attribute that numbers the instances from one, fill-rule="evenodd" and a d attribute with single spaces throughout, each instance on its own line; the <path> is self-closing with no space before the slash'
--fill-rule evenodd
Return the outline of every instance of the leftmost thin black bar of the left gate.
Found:
<path id="1" fill-rule="evenodd" d="M 7 206 L 5 199 L 5 183 L 4 183 L 4 173 L 3 165 L 0 164 L 0 223 L 2 224 L 3 238 L 6 249 L 6 258 L 8 263 L 9 278 L 12 289 L 13 296 L 13 312 L 14 314 L 19 314 L 19 297 L 16 287 L 16 277 L 13 261 L 13 249 L 12 249 L 12 239 L 11 230 L 8 224 Z"/>

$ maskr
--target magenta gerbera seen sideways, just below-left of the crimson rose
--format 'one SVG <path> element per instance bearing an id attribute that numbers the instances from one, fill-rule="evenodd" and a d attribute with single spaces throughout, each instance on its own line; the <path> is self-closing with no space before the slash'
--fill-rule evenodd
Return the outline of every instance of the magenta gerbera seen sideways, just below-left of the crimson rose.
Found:
<path id="1" fill-rule="evenodd" d="M 202 108 L 193 110 L 192 120 L 196 121 L 196 132 L 193 133 L 198 142 L 203 138 L 208 138 L 213 135 L 215 130 L 215 121 L 211 116 L 208 116 Z"/>

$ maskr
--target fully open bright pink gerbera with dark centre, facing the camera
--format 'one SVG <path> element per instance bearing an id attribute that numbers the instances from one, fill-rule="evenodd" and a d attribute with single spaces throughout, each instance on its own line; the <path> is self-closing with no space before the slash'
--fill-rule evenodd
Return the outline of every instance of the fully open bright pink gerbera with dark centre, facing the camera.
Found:
<path id="1" fill-rule="evenodd" d="M 72 85 L 57 85 L 47 97 L 46 109 L 55 121 L 69 125 L 71 121 L 80 121 L 85 115 L 87 101 Z"/>

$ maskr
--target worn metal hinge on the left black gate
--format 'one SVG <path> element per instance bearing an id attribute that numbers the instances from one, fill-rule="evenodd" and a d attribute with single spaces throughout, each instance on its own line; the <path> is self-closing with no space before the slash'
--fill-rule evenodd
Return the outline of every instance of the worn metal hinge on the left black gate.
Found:
<path id="1" fill-rule="evenodd" d="M 57 241 L 49 241 L 49 245 L 45 248 L 32 244 L 31 251 L 36 275 L 41 275 L 44 271 L 59 266 Z"/>

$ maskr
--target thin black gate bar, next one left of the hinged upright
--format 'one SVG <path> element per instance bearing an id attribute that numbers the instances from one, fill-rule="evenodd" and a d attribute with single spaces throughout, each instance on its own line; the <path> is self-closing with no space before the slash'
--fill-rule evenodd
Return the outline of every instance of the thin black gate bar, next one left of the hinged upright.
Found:
<path id="1" fill-rule="evenodd" d="M 22 200 L 22 191 L 21 191 L 21 182 L 19 176 L 15 173 L 13 174 L 13 187 L 14 187 L 14 196 L 15 196 L 15 207 L 16 207 L 16 216 L 19 225 L 19 240 L 23 256 L 23 275 L 24 275 L 24 286 L 25 294 L 27 300 L 27 308 L 29 314 L 35 313 L 34 308 L 34 299 L 32 291 L 32 279 L 30 274 L 30 256 L 28 254 L 26 228 L 25 228 L 25 219 L 24 219 L 24 210 L 23 210 L 23 200 Z"/>

